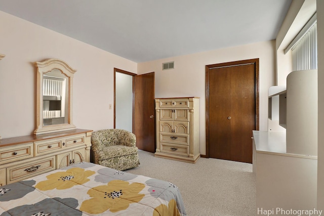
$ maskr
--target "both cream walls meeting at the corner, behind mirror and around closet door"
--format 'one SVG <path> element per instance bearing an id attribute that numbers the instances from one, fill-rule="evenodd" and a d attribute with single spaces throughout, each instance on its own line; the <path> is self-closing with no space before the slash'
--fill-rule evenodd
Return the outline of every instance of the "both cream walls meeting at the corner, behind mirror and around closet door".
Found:
<path id="1" fill-rule="evenodd" d="M 24 136 L 35 129 L 35 67 L 33 62 L 59 58 L 77 69 L 73 88 L 73 123 L 78 128 L 113 127 L 113 68 L 137 73 L 155 71 L 155 97 L 200 97 L 200 153 L 206 154 L 205 65 L 260 59 L 260 130 L 267 131 L 268 88 L 274 85 L 275 42 L 135 63 L 78 40 L 0 12 L 0 135 Z M 162 71 L 162 63 L 175 69 Z"/>

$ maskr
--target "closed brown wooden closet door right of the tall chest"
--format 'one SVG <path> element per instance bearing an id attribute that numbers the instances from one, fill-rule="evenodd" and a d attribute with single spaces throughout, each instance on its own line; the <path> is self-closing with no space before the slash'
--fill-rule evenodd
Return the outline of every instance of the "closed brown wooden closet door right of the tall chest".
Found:
<path id="1" fill-rule="evenodd" d="M 252 163 L 258 129 L 258 59 L 206 67 L 209 157 Z"/>

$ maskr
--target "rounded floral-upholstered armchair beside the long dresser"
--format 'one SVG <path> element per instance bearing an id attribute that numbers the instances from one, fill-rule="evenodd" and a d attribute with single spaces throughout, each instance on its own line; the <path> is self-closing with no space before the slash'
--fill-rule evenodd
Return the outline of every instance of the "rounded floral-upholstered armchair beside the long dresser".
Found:
<path id="1" fill-rule="evenodd" d="M 117 170 L 137 167 L 140 162 L 135 134 L 125 129 L 102 129 L 92 133 L 93 162 Z"/>

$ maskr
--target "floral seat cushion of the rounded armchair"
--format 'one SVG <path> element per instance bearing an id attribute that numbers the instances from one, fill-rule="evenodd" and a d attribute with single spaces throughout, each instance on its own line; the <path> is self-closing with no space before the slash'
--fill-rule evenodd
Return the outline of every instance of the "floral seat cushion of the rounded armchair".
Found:
<path id="1" fill-rule="evenodd" d="M 137 154 L 137 147 L 129 147 L 129 146 L 107 146 L 102 149 L 100 152 L 100 160 L 104 160 L 107 158 Z"/>

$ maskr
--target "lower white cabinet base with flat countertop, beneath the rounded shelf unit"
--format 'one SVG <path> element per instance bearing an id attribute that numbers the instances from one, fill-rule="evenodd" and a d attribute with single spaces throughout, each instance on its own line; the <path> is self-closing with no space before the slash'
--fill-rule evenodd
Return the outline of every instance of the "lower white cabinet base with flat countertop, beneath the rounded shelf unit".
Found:
<path id="1" fill-rule="evenodd" d="M 253 138 L 257 209 L 313 209 L 317 157 L 287 153 L 286 133 L 253 131 Z"/>

